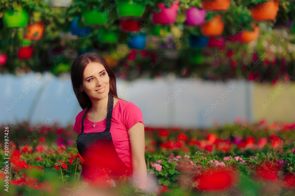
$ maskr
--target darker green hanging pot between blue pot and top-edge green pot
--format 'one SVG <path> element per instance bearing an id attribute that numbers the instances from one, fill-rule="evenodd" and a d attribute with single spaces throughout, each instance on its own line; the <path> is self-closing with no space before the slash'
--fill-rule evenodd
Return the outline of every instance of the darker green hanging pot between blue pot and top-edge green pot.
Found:
<path id="1" fill-rule="evenodd" d="M 102 4 L 94 6 L 88 4 L 87 7 L 82 7 L 81 15 L 86 26 L 102 26 L 106 24 L 109 12 L 101 11 L 101 8 Z"/>

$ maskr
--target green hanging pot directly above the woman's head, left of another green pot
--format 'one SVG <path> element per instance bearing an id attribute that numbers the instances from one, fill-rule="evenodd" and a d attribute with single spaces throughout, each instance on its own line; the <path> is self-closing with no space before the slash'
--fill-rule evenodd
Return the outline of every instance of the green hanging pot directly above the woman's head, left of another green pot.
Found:
<path id="1" fill-rule="evenodd" d="M 87 8 L 82 8 L 81 14 L 85 25 L 104 25 L 108 16 L 98 9 L 88 10 Z"/>

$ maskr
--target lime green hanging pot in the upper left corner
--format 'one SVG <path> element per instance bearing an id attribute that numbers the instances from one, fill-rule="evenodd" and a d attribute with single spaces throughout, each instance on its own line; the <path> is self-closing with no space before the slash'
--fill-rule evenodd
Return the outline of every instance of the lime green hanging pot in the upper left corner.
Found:
<path id="1" fill-rule="evenodd" d="M 6 27 L 24 27 L 28 22 L 29 14 L 25 9 L 12 9 L 10 11 L 4 12 L 3 19 Z"/>

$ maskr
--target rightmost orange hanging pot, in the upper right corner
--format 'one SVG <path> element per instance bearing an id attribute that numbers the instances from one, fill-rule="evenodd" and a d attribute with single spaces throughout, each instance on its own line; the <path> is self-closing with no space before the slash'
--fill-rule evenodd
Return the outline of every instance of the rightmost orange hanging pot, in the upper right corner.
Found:
<path id="1" fill-rule="evenodd" d="M 267 1 L 264 4 L 256 4 L 251 8 L 252 18 L 255 21 L 274 20 L 278 14 L 279 1 Z"/>

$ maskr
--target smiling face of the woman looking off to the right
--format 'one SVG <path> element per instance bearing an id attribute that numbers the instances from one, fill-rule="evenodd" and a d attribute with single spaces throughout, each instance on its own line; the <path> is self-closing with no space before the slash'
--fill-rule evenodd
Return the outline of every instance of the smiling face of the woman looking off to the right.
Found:
<path id="1" fill-rule="evenodd" d="M 103 99 L 109 94 L 109 75 L 101 63 L 90 62 L 83 72 L 83 91 L 90 100 Z"/>

